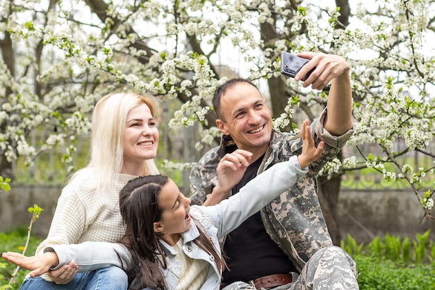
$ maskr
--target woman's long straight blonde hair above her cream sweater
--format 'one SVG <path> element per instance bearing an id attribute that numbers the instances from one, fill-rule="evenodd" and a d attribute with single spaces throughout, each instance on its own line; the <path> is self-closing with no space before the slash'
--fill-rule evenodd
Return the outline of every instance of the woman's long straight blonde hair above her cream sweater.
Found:
<path id="1" fill-rule="evenodd" d="M 115 176 L 121 172 L 124 156 L 122 144 L 127 115 L 141 104 L 146 104 L 151 115 L 156 117 L 158 114 L 156 99 L 135 92 L 105 95 L 95 105 L 92 113 L 90 161 L 86 168 L 92 168 L 97 172 L 96 182 L 100 188 L 109 186 Z M 72 179 L 81 171 L 76 172 Z M 144 162 L 143 175 L 154 174 L 158 174 L 158 169 L 154 159 L 149 159 Z"/>

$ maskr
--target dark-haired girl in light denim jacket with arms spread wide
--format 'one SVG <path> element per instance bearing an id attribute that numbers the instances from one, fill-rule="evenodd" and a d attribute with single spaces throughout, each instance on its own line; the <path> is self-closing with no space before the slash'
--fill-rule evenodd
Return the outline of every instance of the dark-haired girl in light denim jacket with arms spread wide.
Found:
<path id="1" fill-rule="evenodd" d="M 113 265 L 124 268 L 132 281 L 130 289 L 219 289 L 225 267 L 219 239 L 295 184 L 319 158 L 324 144 L 315 148 L 308 121 L 302 124 L 302 138 L 301 155 L 265 170 L 237 195 L 215 206 L 190 207 L 190 199 L 166 176 L 138 177 L 120 193 L 126 225 L 120 243 L 51 245 L 39 257 L 12 252 L 2 256 L 33 270 L 32 276 L 74 261 L 79 271 Z"/>

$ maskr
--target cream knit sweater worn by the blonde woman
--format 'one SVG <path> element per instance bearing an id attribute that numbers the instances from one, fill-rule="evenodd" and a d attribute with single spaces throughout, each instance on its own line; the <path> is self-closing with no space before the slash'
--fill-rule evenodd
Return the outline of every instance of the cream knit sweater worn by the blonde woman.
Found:
<path id="1" fill-rule="evenodd" d="M 49 245 L 83 243 L 84 241 L 116 242 L 124 236 L 119 195 L 133 175 L 118 175 L 106 190 L 97 189 L 95 172 L 85 168 L 63 188 L 47 239 L 36 249 L 36 255 Z"/>

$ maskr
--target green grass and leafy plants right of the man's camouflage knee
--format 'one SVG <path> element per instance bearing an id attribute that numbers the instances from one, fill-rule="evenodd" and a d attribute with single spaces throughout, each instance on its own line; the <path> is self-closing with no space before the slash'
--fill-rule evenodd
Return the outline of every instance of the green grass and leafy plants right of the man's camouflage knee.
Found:
<path id="1" fill-rule="evenodd" d="M 356 261 L 361 290 L 435 290 L 435 243 L 429 230 L 415 239 L 386 234 L 368 245 L 351 236 L 340 246 Z"/>

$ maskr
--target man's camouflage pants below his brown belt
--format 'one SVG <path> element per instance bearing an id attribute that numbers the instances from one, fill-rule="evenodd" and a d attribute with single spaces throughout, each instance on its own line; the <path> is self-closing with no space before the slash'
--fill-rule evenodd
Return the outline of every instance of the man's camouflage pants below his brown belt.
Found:
<path id="1" fill-rule="evenodd" d="M 273 290 L 356 290 L 356 264 L 336 246 L 316 252 L 294 282 Z M 253 283 L 233 282 L 222 290 L 255 290 Z M 263 289 L 263 288 L 262 288 Z"/>

